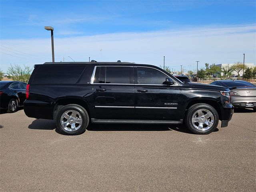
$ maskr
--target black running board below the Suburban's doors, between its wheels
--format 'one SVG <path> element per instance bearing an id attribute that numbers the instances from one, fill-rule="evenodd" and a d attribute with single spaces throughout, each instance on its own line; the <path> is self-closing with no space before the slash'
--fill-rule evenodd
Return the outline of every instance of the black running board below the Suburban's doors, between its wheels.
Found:
<path id="1" fill-rule="evenodd" d="M 129 120 L 129 119 L 94 119 L 92 123 L 122 123 L 122 124 L 182 124 L 181 120 Z"/>

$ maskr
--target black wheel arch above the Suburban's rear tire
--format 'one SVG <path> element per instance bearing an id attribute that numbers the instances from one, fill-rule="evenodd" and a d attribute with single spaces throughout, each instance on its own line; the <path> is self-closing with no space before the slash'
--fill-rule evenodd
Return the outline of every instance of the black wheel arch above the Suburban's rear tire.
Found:
<path id="1" fill-rule="evenodd" d="M 66 106 L 68 104 L 77 104 L 77 105 L 82 106 L 83 108 L 85 108 L 85 110 L 87 111 L 87 113 L 90 117 L 90 110 L 89 110 L 88 104 L 85 100 L 82 100 L 79 98 L 61 98 L 61 99 L 58 99 L 55 103 L 54 110 L 53 110 L 53 119 L 56 119 L 58 110 L 60 110 L 60 108 L 62 108 L 63 106 Z"/>

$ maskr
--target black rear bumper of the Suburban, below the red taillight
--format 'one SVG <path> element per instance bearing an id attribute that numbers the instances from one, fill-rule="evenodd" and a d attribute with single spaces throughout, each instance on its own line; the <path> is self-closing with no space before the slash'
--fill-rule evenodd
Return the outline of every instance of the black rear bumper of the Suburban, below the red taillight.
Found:
<path id="1" fill-rule="evenodd" d="M 26 116 L 37 119 L 53 119 L 55 102 L 43 102 L 37 100 L 25 100 L 24 112 Z"/>

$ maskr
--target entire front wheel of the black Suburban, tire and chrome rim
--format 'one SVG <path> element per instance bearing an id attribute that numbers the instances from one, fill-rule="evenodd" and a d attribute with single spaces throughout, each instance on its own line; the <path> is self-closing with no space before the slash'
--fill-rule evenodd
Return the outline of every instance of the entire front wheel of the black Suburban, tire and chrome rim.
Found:
<path id="1" fill-rule="evenodd" d="M 199 116 L 199 113 L 202 115 Z M 208 117 L 208 115 L 211 116 Z M 207 114 L 207 115 L 206 115 Z M 204 117 L 206 115 L 206 117 Z M 192 118 L 194 119 L 194 124 L 192 122 Z M 198 103 L 192 105 L 185 116 L 185 123 L 187 128 L 194 134 L 209 134 L 216 130 L 219 122 L 218 112 L 210 105 L 204 103 Z M 198 122 L 197 122 L 198 120 Z M 212 121 L 213 120 L 213 121 Z M 205 124 L 205 122 L 207 124 Z M 201 128 L 201 126 L 203 127 Z"/>

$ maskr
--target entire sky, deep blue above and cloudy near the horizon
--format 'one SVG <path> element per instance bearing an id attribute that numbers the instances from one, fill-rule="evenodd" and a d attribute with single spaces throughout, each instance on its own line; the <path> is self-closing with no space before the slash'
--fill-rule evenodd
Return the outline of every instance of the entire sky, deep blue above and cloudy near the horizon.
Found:
<path id="1" fill-rule="evenodd" d="M 4 71 L 10 64 L 51 60 L 44 26 L 54 27 L 56 61 L 90 56 L 159 66 L 165 55 L 178 70 L 195 60 L 200 66 L 242 61 L 245 52 L 246 61 L 256 63 L 254 0 L 0 0 L 0 11 Z"/>

